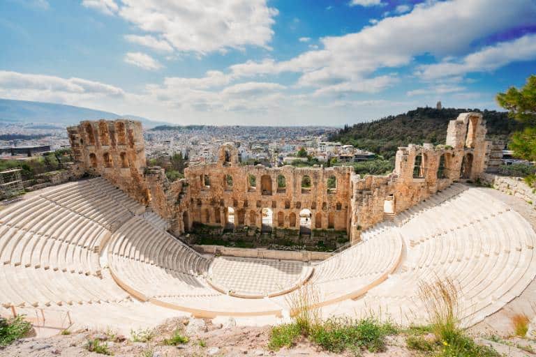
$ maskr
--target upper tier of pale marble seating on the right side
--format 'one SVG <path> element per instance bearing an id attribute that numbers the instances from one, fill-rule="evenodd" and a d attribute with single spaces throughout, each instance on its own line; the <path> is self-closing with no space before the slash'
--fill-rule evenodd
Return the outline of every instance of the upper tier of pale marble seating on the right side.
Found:
<path id="1" fill-rule="evenodd" d="M 511 301 L 536 275 L 536 233 L 519 213 L 479 188 L 454 185 L 454 197 L 433 197 L 399 217 L 405 261 L 387 281 L 329 311 L 385 314 L 401 324 L 426 319 L 422 282 L 452 280 L 466 326 Z"/>

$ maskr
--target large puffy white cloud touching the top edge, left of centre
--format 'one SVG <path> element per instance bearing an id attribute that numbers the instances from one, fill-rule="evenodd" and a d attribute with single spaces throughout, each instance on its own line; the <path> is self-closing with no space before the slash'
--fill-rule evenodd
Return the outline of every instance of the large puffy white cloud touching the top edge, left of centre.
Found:
<path id="1" fill-rule="evenodd" d="M 268 48 L 278 14 L 266 0 L 124 0 L 119 15 L 181 52 Z"/>

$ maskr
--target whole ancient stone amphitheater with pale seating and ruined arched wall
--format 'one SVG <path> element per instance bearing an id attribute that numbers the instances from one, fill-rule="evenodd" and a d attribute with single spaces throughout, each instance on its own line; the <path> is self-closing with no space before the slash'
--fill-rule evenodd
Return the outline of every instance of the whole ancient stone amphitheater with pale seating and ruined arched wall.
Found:
<path id="1" fill-rule="evenodd" d="M 480 114 L 452 120 L 445 145 L 399 148 L 387 176 L 242 166 L 225 145 L 218 162 L 170 183 L 163 169 L 147 167 L 139 122 L 84 121 L 68 132 L 81 179 L 0 211 L 2 314 L 25 313 L 51 328 L 124 331 L 177 315 L 276 324 L 288 319 L 288 295 L 311 284 L 325 317 L 375 311 L 405 324 L 424 319 L 419 282 L 449 277 L 470 326 L 520 296 L 536 275 L 530 223 L 489 189 L 464 183 L 489 160 Z M 304 176 L 310 187 L 301 185 Z M 306 208 L 309 238 L 345 231 L 351 244 L 311 262 L 215 257 L 184 243 L 198 223 L 262 229 L 265 208 L 274 230 L 299 236 Z"/>

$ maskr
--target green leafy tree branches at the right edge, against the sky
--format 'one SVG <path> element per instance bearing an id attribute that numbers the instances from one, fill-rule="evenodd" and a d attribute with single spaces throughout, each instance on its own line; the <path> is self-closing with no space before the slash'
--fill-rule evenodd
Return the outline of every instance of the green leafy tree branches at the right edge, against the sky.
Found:
<path id="1" fill-rule="evenodd" d="M 514 155 L 525 160 L 536 161 L 536 75 L 528 77 L 521 89 L 510 87 L 506 93 L 498 93 L 498 104 L 508 109 L 508 116 L 525 128 L 514 132 L 510 148 Z"/>

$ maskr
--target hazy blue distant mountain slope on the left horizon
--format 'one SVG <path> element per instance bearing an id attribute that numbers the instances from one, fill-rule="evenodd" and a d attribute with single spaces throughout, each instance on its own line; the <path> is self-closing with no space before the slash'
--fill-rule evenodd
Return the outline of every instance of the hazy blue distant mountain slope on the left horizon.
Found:
<path id="1" fill-rule="evenodd" d="M 82 120 L 118 118 L 139 120 L 145 128 L 169 124 L 163 121 L 151 121 L 141 116 L 119 115 L 73 105 L 0 98 L 0 125 L 2 123 L 23 123 L 25 125 L 34 124 L 37 127 L 70 126 Z"/>

